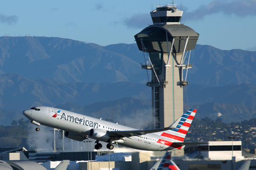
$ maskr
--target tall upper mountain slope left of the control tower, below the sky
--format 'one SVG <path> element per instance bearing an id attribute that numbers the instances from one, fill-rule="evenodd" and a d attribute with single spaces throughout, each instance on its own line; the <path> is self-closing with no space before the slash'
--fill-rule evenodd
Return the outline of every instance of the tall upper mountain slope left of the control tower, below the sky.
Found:
<path id="1" fill-rule="evenodd" d="M 57 37 L 0 37 L 0 69 L 0 74 L 67 83 L 141 82 L 146 78 L 140 64 L 123 54 Z"/>

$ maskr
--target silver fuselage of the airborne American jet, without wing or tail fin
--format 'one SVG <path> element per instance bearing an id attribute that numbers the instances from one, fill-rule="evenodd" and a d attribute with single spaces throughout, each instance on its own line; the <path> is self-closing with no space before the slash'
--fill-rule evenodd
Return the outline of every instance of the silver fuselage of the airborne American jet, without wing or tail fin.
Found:
<path id="1" fill-rule="evenodd" d="M 87 138 L 89 137 L 88 134 L 90 129 L 99 129 L 105 132 L 137 130 L 90 116 L 45 106 L 25 110 L 23 111 L 23 114 L 31 121 L 38 122 L 41 125 L 75 133 Z M 134 149 L 152 151 L 177 150 L 184 148 L 184 146 L 177 148 L 171 147 L 170 143 L 175 141 L 165 136 L 161 136 L 161 134 L 162 132 L 148 133 L 142 136 L 123 137 L 122 139 L 110 139 L 109 141 L 103 142 L 111 142 Z"/>

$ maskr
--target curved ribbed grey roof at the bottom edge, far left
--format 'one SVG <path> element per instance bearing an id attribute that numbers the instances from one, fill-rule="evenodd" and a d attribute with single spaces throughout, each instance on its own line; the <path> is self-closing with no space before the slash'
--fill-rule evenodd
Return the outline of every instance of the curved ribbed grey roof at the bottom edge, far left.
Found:
<path id="1" fill-rule="evenodd" d="M 41 164 L 34 161 L 6 161 L 12 167 L 16 167 L 18 170 L 47 170 Z"/>

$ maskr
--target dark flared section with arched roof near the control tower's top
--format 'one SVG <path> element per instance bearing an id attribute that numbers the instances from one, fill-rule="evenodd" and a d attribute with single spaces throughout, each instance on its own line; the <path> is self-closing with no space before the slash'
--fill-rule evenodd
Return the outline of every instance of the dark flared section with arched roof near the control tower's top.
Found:
<path id="1" fill-rule="evenodd" d="M 192 28 L 182 24 L 151 25 L 134 36 L 138 48 L 143 50 L 142 42 L 147 52 L 169 53 L 173 42 L 172 53 L 181 53 L 195 49 L 199 34 Z M 174 41 L 173 41 L 174 40 Z M 186 40 L 188 42 L 186 43 Z"/>

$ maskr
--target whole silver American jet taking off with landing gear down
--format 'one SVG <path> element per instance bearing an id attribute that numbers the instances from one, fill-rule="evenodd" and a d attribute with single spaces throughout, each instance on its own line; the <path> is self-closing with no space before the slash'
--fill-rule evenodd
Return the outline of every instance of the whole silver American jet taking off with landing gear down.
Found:
<path id="1" fill-rule="evenodd" d="M 107 142 L 107 148 L 112 150 L 113 144 L 138 150 L 167 151 L 180 150 L 185 145 L 204 144 L 207 142 L 183 142 L 197 110 L 189 109 L 169 127 L 149 130 L 137 130 L 118 125 L 90 116 L 65 111 L 46 106 L 32 107 L 23 111 L 31 123 L 64 130 L 64 136 L 76 141 L 95 139 L 95 149 L 102 148 L 101 142 Z"/>

